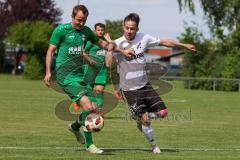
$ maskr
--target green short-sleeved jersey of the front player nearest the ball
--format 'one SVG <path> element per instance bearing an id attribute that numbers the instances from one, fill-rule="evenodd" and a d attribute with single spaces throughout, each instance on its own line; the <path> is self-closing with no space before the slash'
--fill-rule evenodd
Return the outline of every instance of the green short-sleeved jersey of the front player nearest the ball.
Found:
<path id="1" fill-rule="evenodd" d="M 50 44 L 57 47 L 56 68 L 59 84 L 82 81 L 83 49 L 87 41 L 95 43 L 98 40 L 99 38 L 86 26 L 76 30 L 71 23 L 67 23 L 54 30 Z"/>

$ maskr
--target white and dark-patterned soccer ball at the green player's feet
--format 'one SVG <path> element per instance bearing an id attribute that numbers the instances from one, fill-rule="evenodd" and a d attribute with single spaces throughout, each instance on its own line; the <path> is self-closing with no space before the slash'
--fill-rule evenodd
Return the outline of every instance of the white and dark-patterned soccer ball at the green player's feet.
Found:
<path id="1" fill-rule="evenodd" d="M 90 132 L 99 132 L 104 126 L 104 119 L 96 113 L 89 114 L 85 119 L 85 127 Z"/>

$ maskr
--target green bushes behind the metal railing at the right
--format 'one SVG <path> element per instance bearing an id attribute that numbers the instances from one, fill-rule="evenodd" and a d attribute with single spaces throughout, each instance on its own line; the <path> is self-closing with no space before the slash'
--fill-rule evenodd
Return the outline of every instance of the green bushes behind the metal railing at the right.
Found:
<path id="1" fill-rule="evenodd" d="M 197 47 L 196 54 L 186 52 L 183 62 L 183 75 L 197 78 L 239 78 L 240 77 L 240 50 L 234 39 L 238 32 L 229 35 L 226 41 L 213 41 L 204 38 L 196 27 L 187 27 L 179 40 L 184 43 L 192 43 Z M 189 84 L 185 84 L 186 87 Z M 191 81 L 192 89 L 212 90 L 213 83 L 207 81 Z M 237 84 L 221 82 L 217 84 L 218 90 L 234 91 Z"/>

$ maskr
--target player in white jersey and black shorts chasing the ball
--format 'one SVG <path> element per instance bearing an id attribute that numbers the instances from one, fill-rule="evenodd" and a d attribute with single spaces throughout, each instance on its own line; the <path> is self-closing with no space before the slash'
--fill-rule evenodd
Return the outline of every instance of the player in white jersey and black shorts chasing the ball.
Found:
<path id="1" fill-rule="evenodd" d="M 136 13 L 130 13 L 124 18 L 122 37 L 115 40 L 120 49 L 132 49 L 134 55 L 124 55 L 114 53 L 117 60 L 118 73 L 120 76 L 120 91 L 116 92 L 116 97 L 128 104 L 133 118 L 137 121 L 138 129 L 145 135 L 152 146 L 153 153 L 160 153 L 150 119 L 156 117 L 166 117 L 168 110 L 149 83 L 146 71 L 146 60 L 144 52 L 148 47 L 163 45 L 167 47 L 183 47 L 195 51 L 195 46 L 191 44 L 179 43 L 171 39 L 159 39 L 148 34 L 137 33 L 140 18 Z M 108 66 L 110 65 L 107 62 Z"/>

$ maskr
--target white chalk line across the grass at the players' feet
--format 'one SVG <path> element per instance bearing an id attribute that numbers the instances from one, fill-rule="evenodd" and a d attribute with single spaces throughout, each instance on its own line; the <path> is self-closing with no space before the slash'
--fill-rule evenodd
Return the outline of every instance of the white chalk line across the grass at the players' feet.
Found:
<path id="1" fill-rule="evenodd" d="M 101 148 L 103 150 L 151 150 L 149 148 Z M 85 150 L 80 147 L 0 147 L 0 150 Z M 161 148 L 162 151 L 240 151 L 240 148 Z"/>

